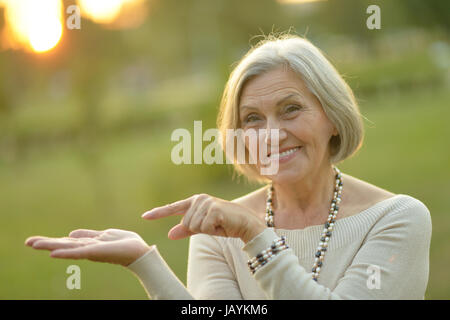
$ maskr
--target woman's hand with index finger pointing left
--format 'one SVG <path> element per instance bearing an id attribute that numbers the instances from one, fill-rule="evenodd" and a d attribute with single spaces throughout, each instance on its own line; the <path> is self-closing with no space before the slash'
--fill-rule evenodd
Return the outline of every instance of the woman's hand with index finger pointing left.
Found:
<path id="1" fill-rule="evenodd" d="M 142 218 L 153 220 L 183 215 L 182 221 L 169 231 L 176 240 L 196 233 L 240 238 L 247 243 L 265 229 L 264 221 L 256 213 L 238 203 L 196 194 L 190 198 L 154 208 Z"/>

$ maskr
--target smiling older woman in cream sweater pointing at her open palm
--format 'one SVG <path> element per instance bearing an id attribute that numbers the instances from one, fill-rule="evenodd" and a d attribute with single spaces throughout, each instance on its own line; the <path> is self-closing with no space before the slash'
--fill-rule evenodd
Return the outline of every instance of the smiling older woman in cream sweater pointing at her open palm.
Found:
<path id="1" fill-rule="evenodd" d="M 80 229 L 26 245 L 126 266 L 152 299 L 424 298 L 430 213 L 336 167 L 360 148 L 363 124 L 351 89 L 313 44 L 289 35 L 252 48 L 227 82 L 218 127 L 276 129 L 278 139 L 259 139 L 278 149 L 267 154 L 278 170 L 262 175 L 261 159 L 235 162 L 266 185 L 233 201 L 200 194 L 143 215 L 182 215 L 169 238 L 190 236 L 187 288 L 157 247 L 130 231 Z M 248 154 L 248 142 L 238 143 Z"/>

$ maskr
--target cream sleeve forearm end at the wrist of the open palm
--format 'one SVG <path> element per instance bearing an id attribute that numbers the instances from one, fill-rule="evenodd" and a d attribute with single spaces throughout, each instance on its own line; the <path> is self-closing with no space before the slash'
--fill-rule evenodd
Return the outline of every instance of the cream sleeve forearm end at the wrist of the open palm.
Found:
<path id="1" fill-rule="evenodd" d="M 172 272 L 156 246 L 127 268 L 139 279 L 150 299 L 191 300 L 192 295 Z"/>

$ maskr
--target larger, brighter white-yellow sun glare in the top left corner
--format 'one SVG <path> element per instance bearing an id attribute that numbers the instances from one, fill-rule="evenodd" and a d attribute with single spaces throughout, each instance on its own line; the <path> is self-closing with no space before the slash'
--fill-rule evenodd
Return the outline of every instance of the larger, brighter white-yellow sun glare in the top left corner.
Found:
<path id="1" fill-rule="evenodd" d="M 60 0 L 4 0 L 2 44 L 6 49 L 25 48 L 37 53 L 53 49 L 63 33 Z"/>

